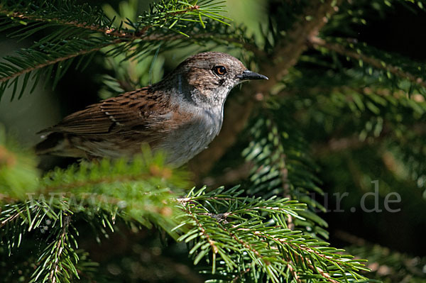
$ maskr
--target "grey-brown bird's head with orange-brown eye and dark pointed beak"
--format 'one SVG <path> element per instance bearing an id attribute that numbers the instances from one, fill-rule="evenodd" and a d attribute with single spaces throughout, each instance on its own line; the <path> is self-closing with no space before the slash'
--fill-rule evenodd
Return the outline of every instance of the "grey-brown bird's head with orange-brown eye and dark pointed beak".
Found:
<path id="1" fill-rule="evenodd" d="M 172 73 L 180 93 L 203 107 L 222 107 L 229 91 L 250 79 L 268 79 L 251 72 L 236 57 L 203 52 L 188 57 Z M 175 83 L 176 84 L 176 83 Z"/>

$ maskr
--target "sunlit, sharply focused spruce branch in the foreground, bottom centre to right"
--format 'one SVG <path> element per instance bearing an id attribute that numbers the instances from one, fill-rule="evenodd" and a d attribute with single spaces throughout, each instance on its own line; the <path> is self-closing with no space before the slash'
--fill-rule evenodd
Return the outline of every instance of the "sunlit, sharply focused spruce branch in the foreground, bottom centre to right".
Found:
<path id="1" fill-rule="evenodd" d="M 365 270 L 360 262 L 287 228 L 285 218 L 300 218 L 300 204 L 286 199 L 240 197 L 237 189 L 200 189 L 181 202 L 185 214 L 179 216 L 182 223 L 177 229 L 192 228 L 178 240 L 189 243 L 195 264 L 203 257 L 209 262 L 211 258 L 213 278 L 222 274 L 233 281 L 259 282 L 259 274 L 263 274 L 272 282 L 281 282 L 289 279 L 286 269 L 297 280 L 349 282 L 363 278 L 357 274 Z M 245 268 L 239 270 L 241 265 Z M 258 275 L 252 277 L 254 274 Z"/>

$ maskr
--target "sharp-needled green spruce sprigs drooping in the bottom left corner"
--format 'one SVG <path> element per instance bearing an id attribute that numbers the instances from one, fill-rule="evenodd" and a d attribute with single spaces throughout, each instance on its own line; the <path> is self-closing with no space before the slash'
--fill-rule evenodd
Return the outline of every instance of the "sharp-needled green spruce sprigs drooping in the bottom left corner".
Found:
<path id="1" fill-rule="evenodd" d="M 68 282 L 71 277 L 78 277 L 75 264 L 79 257 L 72 244 L 75 238 L 69 230 L 68 207 L 61 200 L 55 204 L 26 201 L 6 205 L 0 212 L 0 243 L 6 245 L 9 256 L 25 241 L 24 235 L 50 231 L 48 240 L 40 243 L 40 256 L 34 262 L 36 268 L 30 282 Z"/>

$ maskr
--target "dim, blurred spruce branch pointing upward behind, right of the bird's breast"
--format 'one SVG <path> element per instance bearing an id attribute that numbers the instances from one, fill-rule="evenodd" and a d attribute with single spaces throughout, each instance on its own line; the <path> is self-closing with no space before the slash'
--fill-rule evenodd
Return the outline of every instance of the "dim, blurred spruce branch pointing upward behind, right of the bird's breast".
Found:
<path id="1" fill-rule="evenodd" d="M 250 126 L 252 140 L 242 154 L 252 164 L 251 186 L 247 193 L 251 195 L 283 196 L 308 204 L 306 211 L 299 214 L 303 221 L 289 217 L 289 228 L 314 231 L 322 237 L 328 234 L 319 226 L 327 223 L 314 213 L 324 207 L 315 200 L 315 194 L 322 194 L 315 177 L 317 165 L 312 162 L 309 146 L 300 133 L 291 126 L 290 116 L 283 109 L 265 109 L 263 115 L 253 119 Z M 319 225 L 318 225 L 319 224 Z"/>

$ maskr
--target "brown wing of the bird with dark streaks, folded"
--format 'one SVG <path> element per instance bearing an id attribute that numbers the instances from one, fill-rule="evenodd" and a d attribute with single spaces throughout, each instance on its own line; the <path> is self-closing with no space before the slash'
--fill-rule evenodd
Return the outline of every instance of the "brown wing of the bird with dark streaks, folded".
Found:
<path id="1" fill-rule="evenodd" d="M 86 109 L 70 114 L 58 125 L 40 133 L 149 134 L 164 126 L 164 122 L 171 116 L 168 96 L 143 88 L 87 106 Z"/>

